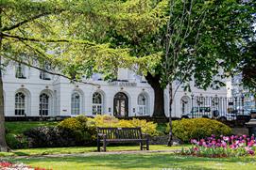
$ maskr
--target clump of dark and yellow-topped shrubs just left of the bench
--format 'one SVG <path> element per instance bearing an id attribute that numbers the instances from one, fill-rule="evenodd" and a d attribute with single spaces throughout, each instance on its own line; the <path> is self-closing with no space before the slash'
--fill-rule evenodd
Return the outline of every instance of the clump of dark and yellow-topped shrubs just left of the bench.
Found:
<path id="1" fill-rule="evenodd" d="M 29 147 L 86 146 L 94 142 L 96 131 L 86 116 L 66 118 L 56 127 L 39 127 L 25 131 Z"/>

